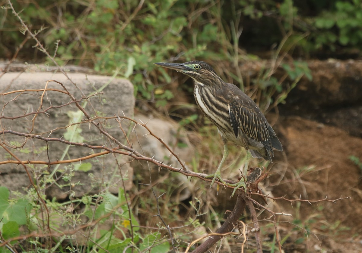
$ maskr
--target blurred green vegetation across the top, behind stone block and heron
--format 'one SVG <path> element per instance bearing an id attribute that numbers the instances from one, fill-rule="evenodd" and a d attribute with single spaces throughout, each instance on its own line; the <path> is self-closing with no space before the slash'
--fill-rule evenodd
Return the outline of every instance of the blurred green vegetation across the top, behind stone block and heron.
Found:
<path id="1" fill-rule="evenodd" d="M 280 66 L 279 60 L 283 60 L 286 53 L 298 51 L 308 55 L 324 49 L 343 51 L 343 46 L 360 48 L 362 44 L 362 22 L 359 22 L 362 10 L 357 8 L 360 0 L 324 0 L 309 6 L 292 0 L 281 3 L 73 0 L 66 4 L 41 0 L 13 4 L 60 65 L 89 66 L 102 74 L 116 73 L 129 78 L 135 84 L 136 96 L 156 108 L 172 100 L 174 91 L 167 86 L 172 81 L 168 74 L 171 72 L 155 70 L 154 62 L 205 60 L 214 66 L 223 66 L 218 72 L 224 72 L 224 77 L 232 76 L 234 80 L 230 81 L 243 89 L 245 76 L 236 66 L 255 57 L 245 54 L 240 47 L 275 50 L 272 59 L 276 66 L 266 69 L 254 80 L 261 89 L 273 87 L 260 94 L 268 101 L 266 108 L 262 106 L 267 109 L 273 104 L 273 100 L 269 100 L 271 95 L 274 99 L 277 97 L 277 103 L 286 96 L 281 91 L 285 84 L 273 77 Z M 0 58 L 11 58 L 21 44 L 18 58 L 47 61 L 51 65 L 52 61 L 44 58 L 33 40 L 25 40 L 24 28 L 7 4 L 2 7 L 0 43 L 4 51 L 0 51 Z M 290 66 L 299 64 L 303 62 Z M 305 67 L 303 70 L 308 73 Z M 180 86 L 178 89 L 187 88 Z"/>

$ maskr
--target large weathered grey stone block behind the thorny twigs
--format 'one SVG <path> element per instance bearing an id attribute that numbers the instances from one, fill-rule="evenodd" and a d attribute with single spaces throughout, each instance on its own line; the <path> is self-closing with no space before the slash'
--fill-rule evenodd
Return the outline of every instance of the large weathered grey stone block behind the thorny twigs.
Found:
<path id="1" fill-rule="evenodd" d="M 23 89 L 44 89 L 47 80 L 56 80 L 62 82 L 70 93 L 77 99 L 81 100 L 81 105 L 85 108 L 91 117 L 101 115 L 112 117 L 114 115 L 126 115 L 132 117 L 134 113 L 134 87 L 129 80 L 112 78 L 101 75 L 87 75 L 83 73 L 67 73 L 70 79 L 76 84 L 72 84 L 62 73 L 51 72 L 10 72 L 5 73 L 0 78 L 0 92 L 6 93 Z M 60 84 L 49 82 L 47 88 L 63 90 Z M 85 97 L 91 96 L 95 92 L 102 92 L 89 99 Z M 1 130 L 13 130 L 24 133 L 39 134 L 48 138 L 70 138 L 69 132 L 75 133 L 73 136 L 75 142 L 85 142 L 91 145 L 112 145 L 109 139 L 100 134 L 99 130 L 92 124 L 76 125 L 77 130 L 69 131 L 66 128 L 71 123 L 81 122 L 85 119 L 84 115 L 79 114 L 80 110 L 71 102 L 67 94 L 57 91 L 47 91 L 43 96 L 41 104 L 42 92 L 16 92 L 9 95 L 1 96 Z M 83 99 L 82 99 L 83 97 Z M 68 105 L 66 105 L 68 104 Z M 66 106 L 65 106 L 66 105 Z M 53 108 L 50 108 L 53 106 Z M 37 114 L 29 114 L 40 111 L 46 112 Z M 50 108 L 50 109 L 49 109 Z M 19 117 L 29 114 L 26 117 Z M 104 129 L 119 140 L 124 140 L 124 135 L 119 128 L 119 123 L 112 120 L 99 120 L 102 122 Z M 127 126 L 125 126 L 127 127 Z M 79 129 L 81 132 L 78 132 Z M 67 132 L 68 130 L 68 132 Z M 68 135 L 68 136 L 67 136 Z M 79 137 L 81 136 L 81 137 Z M 78 138 L 77 138 L 78 137 Z M 83 140 L 79 139 L 83 138 Z M 81 141 L 78 141 L 81 140 Z M 79 146 L 68 146 L 59 142 L 48 142 L 37 139 L 20 137 L 12 134 L 0 135 L 1 143 L 4 143 L 18 158 L 21 160 L 39 160 L 39 161 L 57 161 L 68 160 L 78 157 L 87 156 L 93 151 L 89 148 Z M 95 150 L 95 152 L 100 150 Z M 111 191 L 118 192 L 118 187 L 122 184 L 119 177 L 118 164 L 125 163 L 123 157 L 114 157 L 112 154 L 98 157 L 97 159 L 87 160 L 92 163 L 92 169 L 83 171 L 73 171 L 74 166 L 69 164 L 52 165 L 48 168 L 46 165 L 31 164 L 27 165 L 31 171 L 35 182 L 42 183 L 42 173 L 52 173 L 54 169 L 58 171 L 54 173 L 54 178 L 74 173 L 72 177 L 73 187 L 49 187 L 47 195 L 50 197 L 65 198 L 70 189 L 75 191 L 75 196 L 81 196 L 84 193 L 97 192 L 99 188 L 109 187 Z M 0 161 L 16 160 L 11 157 L 3 149 L 0 152 Z M 122 162 L 123 161 L 123 162 Z M 122 166 L 124 176 L 131 177 L 132 171 L 129 165 Z M 77 182 L 80 186 L 77 186 Z M 99 182 L 104 186 L 97 185 Z M 65 181 L 58 183 L 66 185 Z M 130 188 L 131 180 L 127 181 L 127 188 Z M 29 178 L 24 171 L 24 167 L 7 163 L 0 165 L 0 186 L 6 186 L 10 190 L 21 190 L 22 187 L 29 187 Z"/>

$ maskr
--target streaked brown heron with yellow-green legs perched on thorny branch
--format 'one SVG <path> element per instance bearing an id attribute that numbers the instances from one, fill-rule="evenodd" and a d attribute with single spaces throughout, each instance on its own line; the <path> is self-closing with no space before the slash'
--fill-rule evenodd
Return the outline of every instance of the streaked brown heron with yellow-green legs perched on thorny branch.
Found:
<path id="1" fill-rule="evenodd" d="M 203 114 L 218 127 L 224 142 L 224 155 L 216 172 L 207 176 L 212 177 L 211 186 L 215 179 L 225 184 L 220 170 L 228 156 L 228 141 L 247 150 L 244 178 L 247 176 L 250 156 L 273 162 L 271 161 L 274 157 L 273 148 L 283 151 L 277 135 L 255 102 L 235 85 L 224 82 L 206 62 L 155 64 L 191 77 L 195 83 L 194 97 L 197 105 Z M 232 196 L 237 188 L 244 187 L 246 191 L 247 185 L 244 178 L 239 183 L 230 184 L 235 187 Z"/>

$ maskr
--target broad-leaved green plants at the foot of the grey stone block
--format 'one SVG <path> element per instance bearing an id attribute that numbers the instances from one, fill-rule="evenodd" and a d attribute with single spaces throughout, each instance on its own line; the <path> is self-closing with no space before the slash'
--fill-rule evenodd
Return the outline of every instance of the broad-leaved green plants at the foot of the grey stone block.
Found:
<path id="1" fill-rule="evenodd" d="M 34 192 L 29 192 L 28 196 L 20 199 L 9 198 L 9 190 L 6 187 L 0 187 L 0 232 L 4 240 L 10 240 L 10 244 L 18 244 L 18 240 L 12 238 L 26 235 L 27 233 L 39 232 L 46 233 L 47 228 L 42 226 L 42 214 L 40 205 L 33 204 L 29 201 Z M 96 200 L 96 201 L 94 201 Z M 72 213 L 69 209 L 71 205 L 82 204 L 85 206 L 80 213 Z M 67 231 L 67 227 L 81 226 L 85 218 L 90 223 L 95 222 L 96 226 L 89 226 L 86 231 L 79 231 L 84 234 L 92 234 L 91 240 L 86 245 L 76 245 L 66 243 L 66 237 L 59 236 L 58 241 L 53 237 L 55 244 L 52 246 L 53 251 L 62 251 L 64 245 L 71 249 L 87 248 L 93 252 L 132 252 L 132 247 L 138 250 L 148 250 L 153 253 L 168 252 L 170 244 L 167 238 L 164 238 L 160 232 L 152 232 L 143 236 L 140 233 L 139 223 L 135 218 L 132 210 L 127 205 L 126 195 L 123 188 L 119 188 L 118 197 L 111 193 L 105 193 L 97 196 L 84 196 L 81 199 L 75 199 L 63 204 L 51 201 L 47 203 L 50 211 L 50 228 L 53 231 Z M 46 221 L 45 221 L 46 222 Z M 61 223 L 59 223 L 61 222 Z M 109 230 L 100 230 L 101 224 L 108 224 Z M 20 229 L 20 227 L 26 227 Z M 87 232 L 87 230 L 89 232 Z M 20 232 L 22 231 L 22 232 Z M 100 233 L 100 237 L 96 234 Z M 117 235 L 118 234 L 118 235 Z M 121 234 L 122 236 L 119 236 Z M 31 237 L 30 237 L 31 238 Z M 29 241 L 30 243 L 30 241 Z M 35 241 L 33 241 L 35 243 Z M 60 246 L 62 245 L 62 246 Z M 60 248 L 59 248 L 60 247 Z M 1 249 L 0 249 L 0 252 Z"/>

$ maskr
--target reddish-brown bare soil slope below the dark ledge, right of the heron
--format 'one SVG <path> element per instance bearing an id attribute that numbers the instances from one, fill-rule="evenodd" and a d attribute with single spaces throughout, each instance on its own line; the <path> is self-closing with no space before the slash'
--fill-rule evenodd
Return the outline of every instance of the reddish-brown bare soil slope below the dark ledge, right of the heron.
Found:
<path id="1" fill-rule="evenodd" d="M 300 117 L 281 117 L 276 128 L 285 147 L 282 158 L 285 163 L 281 165 L 286 166 L 286 170 L 279 171 L 285 174 L 274 186 L 274 196 L 287 194 L 289 199 L 308 200 L 350 197 L 336 202 L 304 202 L 299 210 L 289 202 L 278 201 L 282 211 L 299 218 L 304 227 L 318 237 L 319 242 L 315 236 L 309 236 L 306 250 L 362 252 L 362 170 L 349 159 L 350 156 L 362 157 L 362 139 L 337 127 Z M 276 182 L 278 176 L 270 179 Z M 295 234 L 294 239 L 298 236 L 300 233 Z M 295 245 L 294 239 L 291 238 L 290 250 L 285 249 L 285 252 L 306 252 L 291 247 Z"/>

